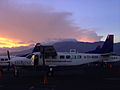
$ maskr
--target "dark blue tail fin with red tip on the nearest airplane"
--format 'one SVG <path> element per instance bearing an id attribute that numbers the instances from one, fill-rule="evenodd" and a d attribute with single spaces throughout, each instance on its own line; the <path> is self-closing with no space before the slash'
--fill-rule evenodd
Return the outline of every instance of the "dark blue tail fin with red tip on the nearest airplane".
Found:
<path id="1" fill-rule="evenodd" d="M 113 52 L 113 42 L 114 42 L 114 35 L 108 35 L 102 48 L 97 47 L 95 50 L 88 51 L 87 53 L 95 53 L 95 54 L 111 53 Z"/>

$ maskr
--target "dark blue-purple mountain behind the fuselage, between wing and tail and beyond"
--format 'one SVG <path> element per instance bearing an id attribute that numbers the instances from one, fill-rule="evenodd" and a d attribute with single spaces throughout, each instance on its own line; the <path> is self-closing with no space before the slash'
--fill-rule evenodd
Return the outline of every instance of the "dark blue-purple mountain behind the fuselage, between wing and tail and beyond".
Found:
<path id="1" fill-rule="evenodd" d="M 94 50 L 96 46 L 100 45 L 102 46 L 104 42 L 94 42 L 94 43 L 88 43 L 88 42 L 58 42 L 54 44 L 54 47 L 58 52 L 69 52 L 70 49 L 76 49 L 77 52 L 87 52 Z M 117 55 L 120 55 L 120 43 L 114 44 L 114 52 Z"/>

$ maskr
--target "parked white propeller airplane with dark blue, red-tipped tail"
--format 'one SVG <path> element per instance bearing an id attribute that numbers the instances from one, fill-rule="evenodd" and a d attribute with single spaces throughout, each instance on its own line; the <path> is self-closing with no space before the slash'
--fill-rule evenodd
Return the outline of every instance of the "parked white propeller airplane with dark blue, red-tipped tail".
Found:
<path id="1" fill-rule="evenodd" d="M 8 61 L 0 61 L 1 66 L 35 67 L 53 73 L 53 68 L 79 67 L 94 62 L 114 63 L 120 61 L 120 56 L 113 53 L 113 35 L 108 35 L 103 46 L 93 51 L 78 53 L 75 49 L 70 52 L 56 52 L 52 45 L 37 43 L 33 52 L 26 57 L 11 58 L 8 52 Z"/>

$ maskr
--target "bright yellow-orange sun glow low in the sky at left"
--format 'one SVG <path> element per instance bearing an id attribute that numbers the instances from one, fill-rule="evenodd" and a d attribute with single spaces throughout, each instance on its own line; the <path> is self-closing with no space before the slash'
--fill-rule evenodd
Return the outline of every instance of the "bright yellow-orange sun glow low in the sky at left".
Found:
<path id="1" fill-rule="evenodd" d="M 0 37 L 0 47 L 20 47 L 20 46 L 28 46 L 30 45 L 29 43 L 21 43 L 22 41 L 20 40 L 15 40 L 15 39 L 8 39 L 8 38 L 3 38 Z"/>

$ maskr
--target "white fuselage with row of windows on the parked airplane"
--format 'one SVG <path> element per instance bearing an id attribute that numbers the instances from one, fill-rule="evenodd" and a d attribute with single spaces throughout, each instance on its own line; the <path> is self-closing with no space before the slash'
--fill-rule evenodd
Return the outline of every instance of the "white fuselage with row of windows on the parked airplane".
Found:
<path id="1" fill-rule="evenodd" d="M 37 58 L 36 58 L 37 57 Z M 37 66 L 43 65 L 43 58 L 40 52 L 33 53 L 27 57 L 14 57 L 10 62 L 10 65 L 16 66 L 34 66 L 35 58 L 37 60 Z M 8 61 L 0 61 L 0 66 L 8 65 Z M 86 53 L 68 53 L 58 52 L 57 56 L 46 56 L 46 66 L 78 66 L 82 64 L 88 64 L 92 62 L 118 62 L 120 56 L 111 55 L 109 57 L 103 57 L 101 54 L 86 54 Z"/>

